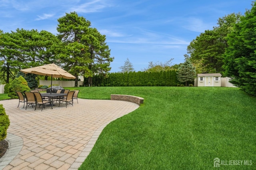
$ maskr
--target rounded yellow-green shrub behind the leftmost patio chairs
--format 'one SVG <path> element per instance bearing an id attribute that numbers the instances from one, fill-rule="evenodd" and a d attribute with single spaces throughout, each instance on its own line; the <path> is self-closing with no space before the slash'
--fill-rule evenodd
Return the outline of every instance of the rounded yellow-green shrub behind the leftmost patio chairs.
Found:
<path id="1" fill-rule="evenodd" d="M 15 91 L 30 91 L 28 82 L 22 76 L 15 78 L 10 84 L 8 96 L 11 97 L 11 99 L 18 99 L 18 95 Z"/>

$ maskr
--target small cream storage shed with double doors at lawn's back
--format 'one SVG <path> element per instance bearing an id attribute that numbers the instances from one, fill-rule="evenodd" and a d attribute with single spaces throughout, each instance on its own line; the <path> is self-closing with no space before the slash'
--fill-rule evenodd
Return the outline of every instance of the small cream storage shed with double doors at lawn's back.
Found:
<path id="1" fill-rule="evenodd" d="M 220 87 L 221 74 L 220 73 L 197 74 L 196 80 L 195 80 L 195 86 Z"/>

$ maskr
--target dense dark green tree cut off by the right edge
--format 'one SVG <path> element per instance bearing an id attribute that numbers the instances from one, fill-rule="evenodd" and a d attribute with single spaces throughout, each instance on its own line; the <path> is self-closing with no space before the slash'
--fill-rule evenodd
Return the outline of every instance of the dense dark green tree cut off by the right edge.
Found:
<path id="1" fill-rule="evenodd" d="M 224 54 L 225 75 L 249 94 L 256 95 L 256 2 L 228 35 Z"/>

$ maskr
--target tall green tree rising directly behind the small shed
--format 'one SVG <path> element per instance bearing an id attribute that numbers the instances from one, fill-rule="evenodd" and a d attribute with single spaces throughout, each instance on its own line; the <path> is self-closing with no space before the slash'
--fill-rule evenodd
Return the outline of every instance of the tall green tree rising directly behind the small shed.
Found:
<path id="1" fill-rule="evenodd" d="M 218 26 L 213 30 L 206 30 L 197 36 L 187 47 L 188 54 L 194 65 L 197 65 L 197 73 L 222 73 L 223 54 L 227 47 L 227 35 L 238 23 L 241 14 L 229 14 L 218 19 Z"/>

